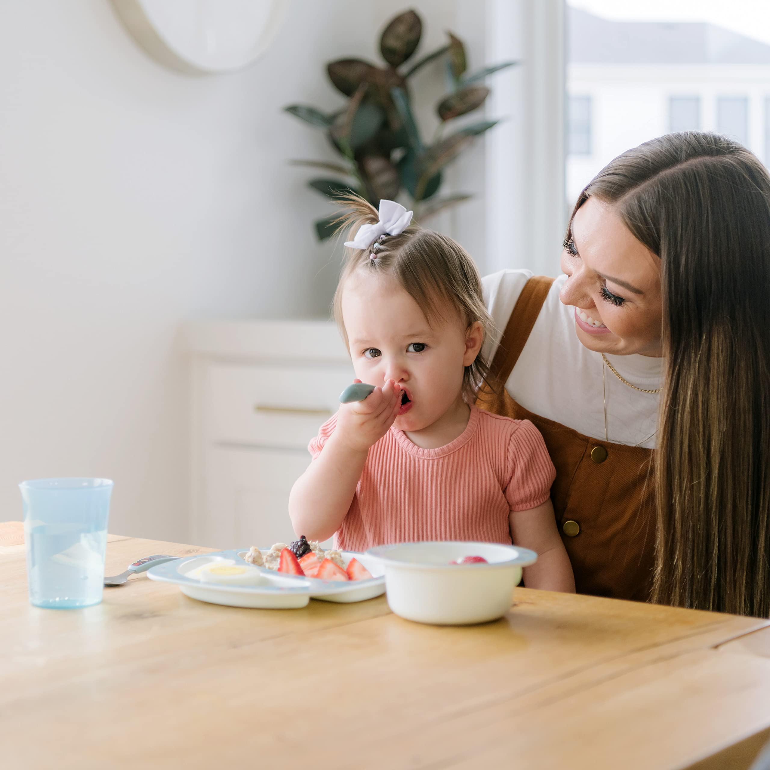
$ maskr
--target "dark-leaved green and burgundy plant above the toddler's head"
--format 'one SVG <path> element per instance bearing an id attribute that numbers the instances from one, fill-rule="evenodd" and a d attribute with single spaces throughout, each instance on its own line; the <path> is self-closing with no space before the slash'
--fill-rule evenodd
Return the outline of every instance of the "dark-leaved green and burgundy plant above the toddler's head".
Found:
<path id="1" fill-rule="evenodd" d="M 356 192 L 377 207 L 380 199 L 395 199 L 405 192 L 416 219 L 426 219 L 470 198 L 466 193 L 440 195 L 444 168 L 498 121 L 482 120 L 457 129 L 454 122 L 484 105 L 490 94 L 484 85 L 487 75 L 517 62 L 503 62 L 469 75 L 465 46 L 449 32 L 447 45 L 407 66 L 420 43 L 422 28 L 420 16 L 414 11 L 393 18 L 380 37 L 385 62 L 382 67 L 361 59 L 340 59 L 327 65 L 331 82 L 348 98 L 344 109 L 323 112 L 299 104 L 285 108 L 323 129 L 340 154 L 340 162 L 292 161 L 334 173 L 333 177 L 308 182 L 324 196 L 334 200 Z M 438 59 L 445 61 L 450 91 L 437 102 L 439 125 L 427 143 L 420 136 L 412 110 L 413 99 L 424 97 L 411 95 L 410 79 L 428 62 Z M 319 239 L 333 234 L 338 216 L 333 214 L 315 223 Z"/>

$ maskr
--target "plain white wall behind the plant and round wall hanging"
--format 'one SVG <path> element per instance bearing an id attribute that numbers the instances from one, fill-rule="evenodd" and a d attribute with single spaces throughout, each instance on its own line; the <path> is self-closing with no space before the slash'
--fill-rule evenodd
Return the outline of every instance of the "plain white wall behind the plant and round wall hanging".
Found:
<path id="1" fill-rule="evenodd" d="M 263 59 L 216 78 L 156 65 L 106 0 L 0 3 L 0 520 L 22 479 L 105 476 L 112 531 L 185 539 L 179 324 L 325 313 L 330 207 L 286 160 L 332 153 L 280 110 L 341 104 L 323 63 L 374 58 L 401 8 L 292 2 Z M 457 4 L 413 4 L 428 42 L 470 24 Z"/>

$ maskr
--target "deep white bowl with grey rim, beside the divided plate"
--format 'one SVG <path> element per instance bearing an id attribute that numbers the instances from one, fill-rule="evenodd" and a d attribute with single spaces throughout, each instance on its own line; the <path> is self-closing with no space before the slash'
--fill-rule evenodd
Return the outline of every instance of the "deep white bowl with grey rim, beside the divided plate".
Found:
<path id="1" fill-rule="evenodd" d="M 436 625 L 494 621 L 511 609 L 521 567 L 537 561 L 527 548 L 499 543 L 424 541 L 367 551 L 385 569 L 390 609 L 401 618 Z M 488 564 L 450 564 L 483 556 Z"/>

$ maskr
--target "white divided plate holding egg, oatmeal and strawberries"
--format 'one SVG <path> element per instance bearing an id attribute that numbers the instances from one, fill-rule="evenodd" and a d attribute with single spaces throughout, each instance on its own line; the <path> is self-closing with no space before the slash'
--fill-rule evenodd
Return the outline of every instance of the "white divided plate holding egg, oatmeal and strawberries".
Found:
<path id="1" fill-rule="evenodd" d="M 364 601 L 385 592 L 383 568 L 377 560 L 366 554 L 343 551 L 343 561 L 347 564 L 356 557 L 373 575 L 366 581 L 326 581 L 315 577 L 286 575 L 282 572 L 254 567 L 263 576 L 263 583 L 256 586 L 229 586 L 216 583 L 202 583 L 196 577 L 190 577 L 205 564 L 222 562 L 223 564 L 243 564 L 243 557 L 249 549 L 233 551 L 215 551 L 211 554 L 192 556 L 179 561 L 167 561 L 147 571 L 151 580 L 174 583 L 183 594 L 192 599 L 207 601 L 210 604 L 223 604 L 226 607 L 245 607 L 254 609 L 291 609 L 305 607 L 311 598 L 323 601 L 353 602 Z M 263 551 L 266 553 L 266 551 Z"/>

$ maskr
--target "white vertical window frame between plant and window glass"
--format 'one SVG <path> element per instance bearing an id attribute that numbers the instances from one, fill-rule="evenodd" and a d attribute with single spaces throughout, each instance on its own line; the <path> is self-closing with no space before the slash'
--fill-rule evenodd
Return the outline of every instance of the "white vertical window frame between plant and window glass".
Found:
<path id="1" fill-rule="evenodd" d="M 565 0 L 487 0 L 487 62 L 496 75 L 487 114 L 510 119 L 484 137 L 484 272 L 558 275 L 567 225 Z M 474 5 L 474 13 L 478 13 Z"/>

